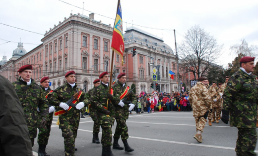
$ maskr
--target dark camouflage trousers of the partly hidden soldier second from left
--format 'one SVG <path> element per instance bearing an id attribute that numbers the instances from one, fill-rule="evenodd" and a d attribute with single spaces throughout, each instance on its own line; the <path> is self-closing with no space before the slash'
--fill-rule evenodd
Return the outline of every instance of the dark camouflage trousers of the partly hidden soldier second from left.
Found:
<path id="1" fill-rule="evenodd" d="M 53 114 L 49 114 L 49 119 L 47 121 L 47 124 L 43 128 L 39 128 L 39 134 L 38 134 L 38 144 L 48 145 L 48 139 L 51 131 L 51 125 L 53 121 Z"/>

